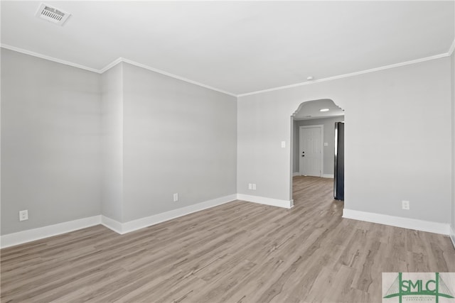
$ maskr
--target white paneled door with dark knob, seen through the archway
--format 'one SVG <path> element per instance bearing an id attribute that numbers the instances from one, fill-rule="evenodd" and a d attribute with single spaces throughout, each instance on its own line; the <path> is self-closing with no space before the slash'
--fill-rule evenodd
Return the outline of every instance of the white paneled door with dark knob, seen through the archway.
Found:
<path id="1" fill-rule="evenodd" d="M 321 177 L 323 126 L 300 126 L 300 173 Z"/>

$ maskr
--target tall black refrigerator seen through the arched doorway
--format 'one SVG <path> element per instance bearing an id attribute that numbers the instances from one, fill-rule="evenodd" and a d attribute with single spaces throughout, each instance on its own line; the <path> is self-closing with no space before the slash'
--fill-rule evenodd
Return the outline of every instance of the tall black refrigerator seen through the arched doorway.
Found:
<path id="1" fill-rule="evenodd" d="M 344 200 L 344 122 L 335 122 L 333 197 L 337 200 Z"/>

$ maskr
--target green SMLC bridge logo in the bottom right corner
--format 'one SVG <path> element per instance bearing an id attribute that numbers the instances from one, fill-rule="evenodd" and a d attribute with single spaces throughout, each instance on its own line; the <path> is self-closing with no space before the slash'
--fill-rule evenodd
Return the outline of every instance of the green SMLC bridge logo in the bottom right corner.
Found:
<path id="1" fill-rule="evenodd" d="M 400 303 L 402 303 L 402 297 L 405 296 L 434 296 L 436 303 L 439 303 L 439 297 L 453 299 L 454 295 L 442 280 L 439 272 L 434 274 L 434 280 L 403 280 L 402 272 L 398 272 L 397 278 L 385 293 L 384 299 L 398 297 Z M 416 300 L 418 301 L 417 298 Z"/>

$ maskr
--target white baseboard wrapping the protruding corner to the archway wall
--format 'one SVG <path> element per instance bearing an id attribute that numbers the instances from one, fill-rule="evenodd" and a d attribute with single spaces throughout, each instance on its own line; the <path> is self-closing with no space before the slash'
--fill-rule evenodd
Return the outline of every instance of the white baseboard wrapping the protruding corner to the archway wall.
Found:
<path id="1" fill-rule="evenodd" d="M 146 216 L 145 218 L 120 223 L 113 219 L 108 218 L 107 216 L 102 216 L 102 224 L 107 228 L 112 229 L 117 233 L 129 233 L 131 231 L 137 231 L 140 228 L 152 226 L 159 224 L 164 221 L 178 218 L 179 216 L 185 216 L 187 214 L 192 214 L 196 211 L 202 211 L 204 209 L 209 209 L 213 206 L 218 206 L 228 202 L 232 202 L 237 199 L 237 194 L 230 194 L 229 196 L 220 197 L 217 199 L 208 200 L 198 204 L 193 204 L 189 206 L 182 207 L 180 209 L 173 209 L 171 211 L 165 211 L 161 214 L 155 214 L 153 216 Z"/>

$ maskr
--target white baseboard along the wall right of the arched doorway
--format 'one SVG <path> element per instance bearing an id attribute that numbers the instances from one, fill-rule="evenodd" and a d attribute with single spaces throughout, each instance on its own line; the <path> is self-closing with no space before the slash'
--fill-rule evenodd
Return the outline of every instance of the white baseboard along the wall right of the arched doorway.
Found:
<path id="1" fill-rule="evenodd" d="M 449 235 L 449 224 L 343 209 L 343 218 Z M 453 241 L 453 240 L 452 240 Z"/>

